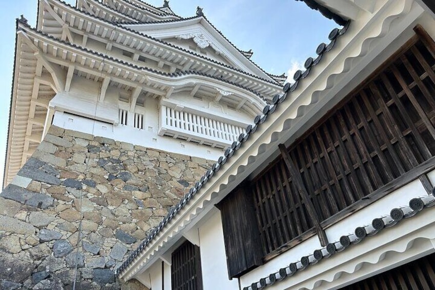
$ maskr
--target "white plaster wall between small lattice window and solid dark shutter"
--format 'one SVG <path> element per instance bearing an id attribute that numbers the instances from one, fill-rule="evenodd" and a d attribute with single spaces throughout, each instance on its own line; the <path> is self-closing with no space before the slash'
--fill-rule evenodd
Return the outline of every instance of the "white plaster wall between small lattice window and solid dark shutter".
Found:
<path id="1" fill-rule="evenodd" d="M 238 279 L 228 278 L 220 211 L 199 228 L 199 233 L 204 290 L 238 290 Z"/>

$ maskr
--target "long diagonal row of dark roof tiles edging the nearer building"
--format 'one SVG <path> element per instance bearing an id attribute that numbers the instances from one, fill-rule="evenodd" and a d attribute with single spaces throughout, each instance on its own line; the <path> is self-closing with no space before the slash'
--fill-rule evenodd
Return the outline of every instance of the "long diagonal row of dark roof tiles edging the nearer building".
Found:
<path id="1" fill-rule="evenodd" d="M 210 180 L 213 175 L 217 171 L 219 171 L 221 167 L 233 156 L 234 152 L 242 147 L 243 143 L 248 140 L 249 136 L 255 133 L 258 127 L 267 120 L 268 115 L 272 114 L 276 110 L 276 107 L 280 103 L 284 102 L 288 98 L 290 93 L 298 88 L 300 82 L 309 75 L 311 69 L 320 63 L 320 61 L 322 60 L 322 56 L 326 52 L 329 52 L 335 46 L 337 39 L 347 31 L 349 25 L 350 22 L 347 22 L 342 29 L 334 28 L 329 33 L 328 38 L 331 42 L 328 45 L 321 43 L 318 46 L 316 50 L 318 56 L 316 57 L 316 59 L 314 60 L 312 57 L 308 57 L 305 62 L 306 70 L 304 72 L 302 72 L 301 70 L 296 71 L 293 78 L 295 82 L 293 84 L 286 83 L 284 85 L 284 94 L 276 94 L 273 97 L 272 104 L 266 105 L 263 108 L 263 114 L 257 115 L 255 117 L 254 125 L 248 125 L 246 127 L 246 132 L 240 134 L 238 141 L 234 141 L 231 144 L 231 147 L 225 150 L 224 156 L 221 156 L 219 160 L 217 160 L 217 162 L 213 164 L 211 169 L 207 170 L 205 175 L 201 177 L 200 181 L 196 182 L 195 186 L 190 188 L 189 192 L 184 195 L 180 202 L 170 210 L 169 214 L 160 222 L 159 226 L 155 227 L 152 230 L 151 234 L 142 241 L 141 245 L 137 247 L 134 252 L 129 255 L 127 260 L 115 270 L 116 276 L 119 276 L 120 273 L 123 272 L 123 270 L 133 261 L 133 259 L 135 259 L 143 251 L 143 249 L 149 245 L 149 243 L 160 233 L 162 228 L 165 227 L 172 220 L 172 218 L 186 206 L 186 204 L 192 199 L 192 197 L 194 197 L 197 192 L 200 191 L 203 185 L 205 185 L 208 180 Z"/>

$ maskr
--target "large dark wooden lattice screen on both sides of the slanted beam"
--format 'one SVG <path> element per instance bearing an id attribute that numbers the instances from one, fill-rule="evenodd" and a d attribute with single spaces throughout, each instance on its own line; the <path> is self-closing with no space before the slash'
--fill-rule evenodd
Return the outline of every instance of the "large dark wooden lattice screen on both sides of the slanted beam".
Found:
<path id="1" fill-rule="evenodd" d="M 434 156 L 434 68 L 433 50 L 414 37 L 289 147 L 320 222 Z M 430 187 L 426 176 L 420 179 Z M 255 178 L 251 191 L 264 256 L 315 234 L 282 157 Z"/>

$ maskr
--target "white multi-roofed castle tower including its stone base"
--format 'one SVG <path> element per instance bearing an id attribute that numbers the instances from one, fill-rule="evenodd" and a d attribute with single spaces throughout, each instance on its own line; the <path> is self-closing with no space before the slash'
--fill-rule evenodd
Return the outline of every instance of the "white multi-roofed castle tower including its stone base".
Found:
<path id="1" fill-rule="evenodd" d="M 284 80 L 167 1 L 39 0 L 15 46 L 2 289 L 121 287 L 114 269 Z"/>

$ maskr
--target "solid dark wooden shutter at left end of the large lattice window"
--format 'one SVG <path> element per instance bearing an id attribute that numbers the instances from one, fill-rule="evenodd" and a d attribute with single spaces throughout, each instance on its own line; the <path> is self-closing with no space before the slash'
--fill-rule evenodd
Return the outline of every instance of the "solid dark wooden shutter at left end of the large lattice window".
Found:
<path id="1" fill-rule="evenodd" d="M 217 205 L 221 210 L 230 278 L 240 277 L 262 264 L 262 250 L 255 220 L 252 192 L 240 186 Z"/>

